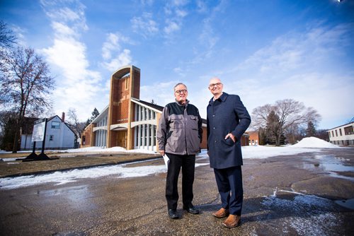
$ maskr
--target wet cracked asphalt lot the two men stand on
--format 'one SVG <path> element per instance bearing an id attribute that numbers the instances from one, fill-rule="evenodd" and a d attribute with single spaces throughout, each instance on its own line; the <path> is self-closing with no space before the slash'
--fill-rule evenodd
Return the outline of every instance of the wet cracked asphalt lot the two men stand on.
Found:
<path id="1" fill-rule="evenodd" d="M 137 165 L 163 160 L 127 167 Z M 195 170 L 200 214 L 180 201 L 177 220 L 167 215 L 166 172 L 0 189 L 0 235 L 354 235 L 353 167 L 354 148 L 244 159 L 241 225 L 233 229 L 212 216 L 220 199 L 209 165 Z"/>

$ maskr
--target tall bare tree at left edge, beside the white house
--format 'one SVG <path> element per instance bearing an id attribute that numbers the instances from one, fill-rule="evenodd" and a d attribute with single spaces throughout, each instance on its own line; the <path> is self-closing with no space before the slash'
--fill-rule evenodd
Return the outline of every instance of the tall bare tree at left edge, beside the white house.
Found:
<path id="1" fill-rule="evenodd" d="M 0 106 L 16 112 L 16 133 L 13 152 L 18 151 L 23 117 L 37 116 L 51 107 L 47 98 L 54 89 L 54 78 L 50 70 L 35 51 L 17 47 L 6 53 L 1 63 Z"/>

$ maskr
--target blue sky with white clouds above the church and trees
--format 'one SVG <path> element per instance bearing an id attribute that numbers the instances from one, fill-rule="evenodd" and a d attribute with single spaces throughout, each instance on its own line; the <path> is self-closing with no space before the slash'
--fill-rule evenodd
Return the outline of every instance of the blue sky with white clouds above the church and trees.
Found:
<path id="1" fill-rule="evenodd" d="M 110 76 L 141 69 L 140 99 L 173 101 L 188 86 L 202 117 L 219 76 L 255 107 L 292 98 L 331 129 L 354 116 L 354 1 L 0 0 L 0 18 L 56 78 L 52 114 L 82 121 L 108 105 Z"/>

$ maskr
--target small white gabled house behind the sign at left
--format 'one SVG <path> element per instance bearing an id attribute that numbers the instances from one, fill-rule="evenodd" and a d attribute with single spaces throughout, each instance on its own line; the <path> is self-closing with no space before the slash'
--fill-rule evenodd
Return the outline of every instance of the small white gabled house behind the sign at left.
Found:
<path id="1" fill-rule="evenodd" d="M 21 150 L 31 150 L 33 148 L 32 129 L 30 134 L 21 134 Z M 26 133 L 26 132 L 25 132 Z M 57 115 L 47 119 L 47 130 L 45 134 L 45 149 L 69 149 L 75 147 L 75 134 L 72 129 Z M 42 141 L 35 143 L 35 148 L 42 148 Z"/>

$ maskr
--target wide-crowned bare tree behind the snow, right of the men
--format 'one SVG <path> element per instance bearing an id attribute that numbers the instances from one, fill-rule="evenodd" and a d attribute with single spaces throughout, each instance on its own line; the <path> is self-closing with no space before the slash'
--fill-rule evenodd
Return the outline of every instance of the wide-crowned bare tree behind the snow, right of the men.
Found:
<path id="1" fill-rule="evenodd" d="M 285 99 L 276 101 L 274 105 L 256 107 L 252 112 L 253 128 L 266 128 L 268 117 L 272 112 L 278 117 L 278 125 L 273 124 L 273 128 L 277 129 L 273 131 L 273 134 L 276 134 L 276 146 L 280 146 L 280 138 L 285 131 L 303 126 L 310 121 L 316 124 L 321 119 L 321 115 L 314 108 L 305 107 L 302 102 Z"/>

